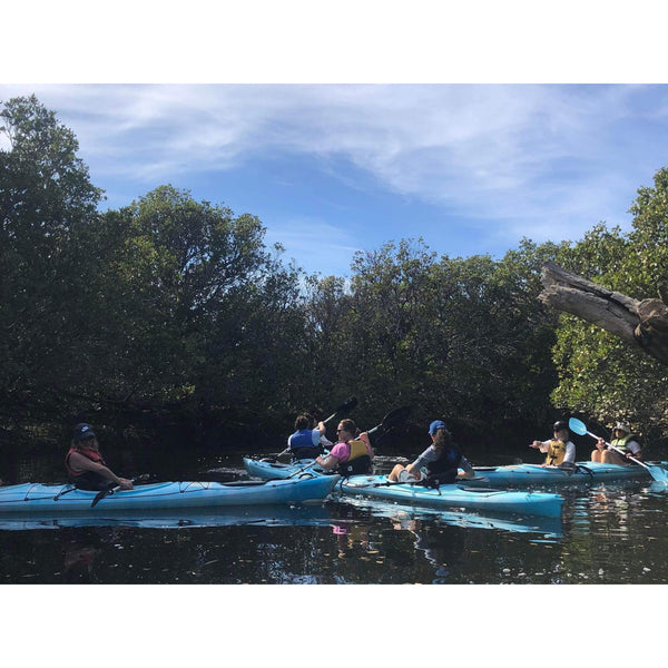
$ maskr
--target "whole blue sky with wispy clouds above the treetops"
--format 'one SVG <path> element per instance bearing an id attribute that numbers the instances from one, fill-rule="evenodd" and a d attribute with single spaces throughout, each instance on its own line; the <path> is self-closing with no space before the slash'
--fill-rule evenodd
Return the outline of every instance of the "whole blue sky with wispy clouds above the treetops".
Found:
<path id="1" fill-rule="evenodd" d="M 102 208 L 171 184 L 325 275 L 401 238 L 500 257 L 628 228 L 668 166 L 664 85 L 0 85 L 30 94 L 75 131 Z"/>

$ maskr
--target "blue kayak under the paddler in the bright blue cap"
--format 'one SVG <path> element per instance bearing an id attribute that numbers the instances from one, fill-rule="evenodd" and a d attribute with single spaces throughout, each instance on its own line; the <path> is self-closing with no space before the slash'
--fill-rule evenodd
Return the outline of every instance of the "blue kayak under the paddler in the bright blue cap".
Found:
<path id="1" fill-rule="evenodd" d="M 442 484 L 439 489 L 430 489 L 414 483 L 390 482 L 386 475 L 352 475 L 342 479 L 334 488 L 334 492 L 411 505 L 466 508 L 547 518 L 561 517 L 563 504 L 562 497 L 548 492 L 493 490 L 469 487 L 464 483 Z"/>

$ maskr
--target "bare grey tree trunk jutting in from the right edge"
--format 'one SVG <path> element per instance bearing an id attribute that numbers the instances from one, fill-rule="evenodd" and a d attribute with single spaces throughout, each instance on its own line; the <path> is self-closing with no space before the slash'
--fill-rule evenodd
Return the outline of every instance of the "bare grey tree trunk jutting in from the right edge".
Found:
<path id="1" fill-rule="evenodd" d="M 633 299 L 570 274 L 552 262 L 542 267 L 539 299 L 577 315 L 668 366 L 668 308 L 661 299 Z"/>

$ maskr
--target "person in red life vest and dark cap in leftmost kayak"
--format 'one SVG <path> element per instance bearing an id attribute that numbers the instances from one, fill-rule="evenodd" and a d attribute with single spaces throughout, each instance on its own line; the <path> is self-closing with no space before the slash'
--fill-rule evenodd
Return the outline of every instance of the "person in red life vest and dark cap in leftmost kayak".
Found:
<path id="1" fill-rule="evenodd" d="M 80 490 L 98 491 L 112 487 L 132 489 L 130 480 L 119 478 L 105 463 L 90 424 L 81 423 L 75 428 L 70 449 L 65 456 L 65 468 L 75 487 Z"/>

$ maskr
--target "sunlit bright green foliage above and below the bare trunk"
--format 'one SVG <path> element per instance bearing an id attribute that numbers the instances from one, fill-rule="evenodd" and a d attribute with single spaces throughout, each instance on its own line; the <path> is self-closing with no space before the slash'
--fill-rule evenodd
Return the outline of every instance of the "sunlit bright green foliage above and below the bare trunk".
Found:
<path id="1" fill-rule="evenodd" d="M 568 250 L 564 265 L 637 299 L 657 297 L 668 277 L 668 174 L 640 188 L 631 206 L 632 230 L 598 225 Z M 631 422 L 648 438 L 668 429 L 668 373 L 654 358 L 600 327 L 562 315 L 554 347 L 559 385 L 552 399 L 611 424 Z"/>

